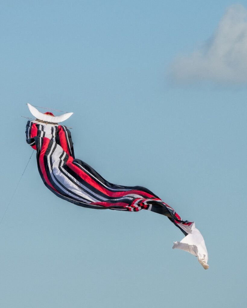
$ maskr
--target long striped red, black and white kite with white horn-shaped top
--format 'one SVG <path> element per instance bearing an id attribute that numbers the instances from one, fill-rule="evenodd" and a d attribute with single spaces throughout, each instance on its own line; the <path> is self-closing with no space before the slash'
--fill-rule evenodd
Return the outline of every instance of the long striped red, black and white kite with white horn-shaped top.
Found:
<path id="1" fill-rule="evenodd" d="M 26 126 L 27 143 L 37 151 L 37 165 L 45 186 L 57 197 L 91 209 L 138 212 L 146 209 L 170 219 L 185 237 L 173 248 L 185 250 L 208 269 L 208 254 L 203 236 L 195 222 L 183 221 L 172 207 L 142 186 L 122 186 L 105 180 L 92 167 L 74 157 L 71 133 L 58 123 L 73 113 L 54 116 L 27 104 L 35 120 Z"/>

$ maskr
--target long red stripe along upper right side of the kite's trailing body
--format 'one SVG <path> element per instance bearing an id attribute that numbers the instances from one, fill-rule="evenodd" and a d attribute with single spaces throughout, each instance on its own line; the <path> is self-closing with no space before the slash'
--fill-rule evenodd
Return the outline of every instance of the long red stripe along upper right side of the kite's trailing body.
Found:
<path id="1" fill-rule="evenodd" d="M 100 191 L 101 193 L 104 193 L 105 195 L 107 195 L 109 197 L 124 197 L 124 196 L 126 196 L 128 194 L 132 194 L 133 193 L 133 194 L 141 194 L 141 195 L 143 195 L 145 197 L 148 197 L 148 198 L 153 198 L 153 196 L 150 195 L 149 193 L 145 193 L 145 192 L 140 191 L 140 190 L 129 190 L 129 191 L 124 191 L 124 192 L 111 192 L 107 188 L 104 188 L 103 186 L 98 184 L 88 174 L 86 174 L 86 172 L 84 172 L 82 169 L 80 169 L 79 167 L 74 165 L 72 163 L 72 161 L 73 161 L 73 158 L 70 156 L 69 159 L 67 160 L 66 165 L 71 170 L 73 170 L 78 176 L 80 176 L 82 178 L 82 180 L 84 180 L 85 182 L 87 182 L 88 184 L 90 184 L 91 186 L 96 188 L 98 191 Z"/>

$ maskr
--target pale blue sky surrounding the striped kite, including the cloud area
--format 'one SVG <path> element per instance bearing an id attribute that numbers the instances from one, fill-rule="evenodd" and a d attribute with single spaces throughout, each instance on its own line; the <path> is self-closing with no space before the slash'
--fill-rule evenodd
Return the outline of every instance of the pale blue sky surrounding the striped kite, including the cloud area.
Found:
<path id="1" fill-rule="evenodd" d="M 58 199 L 33 156 L 0 224 L 3 307 L 245 307 L 246 9 L 1 2 L 0 219 L 32 152 L 25 104 L 72 111 L 75 156 L 195 221 L 210 265 L 172 250 L 166 217 Z"/>

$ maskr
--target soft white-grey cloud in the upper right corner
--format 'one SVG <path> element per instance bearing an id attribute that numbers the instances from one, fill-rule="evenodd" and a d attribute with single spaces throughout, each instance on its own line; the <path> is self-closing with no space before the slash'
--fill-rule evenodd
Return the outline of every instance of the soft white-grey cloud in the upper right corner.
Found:
<path id="1" fill-rule="evenodd" d="M 229 6 L 212 38 L 192 54 L 170 65 L 175 82 L 247 83 L 247 10 Z"/>

